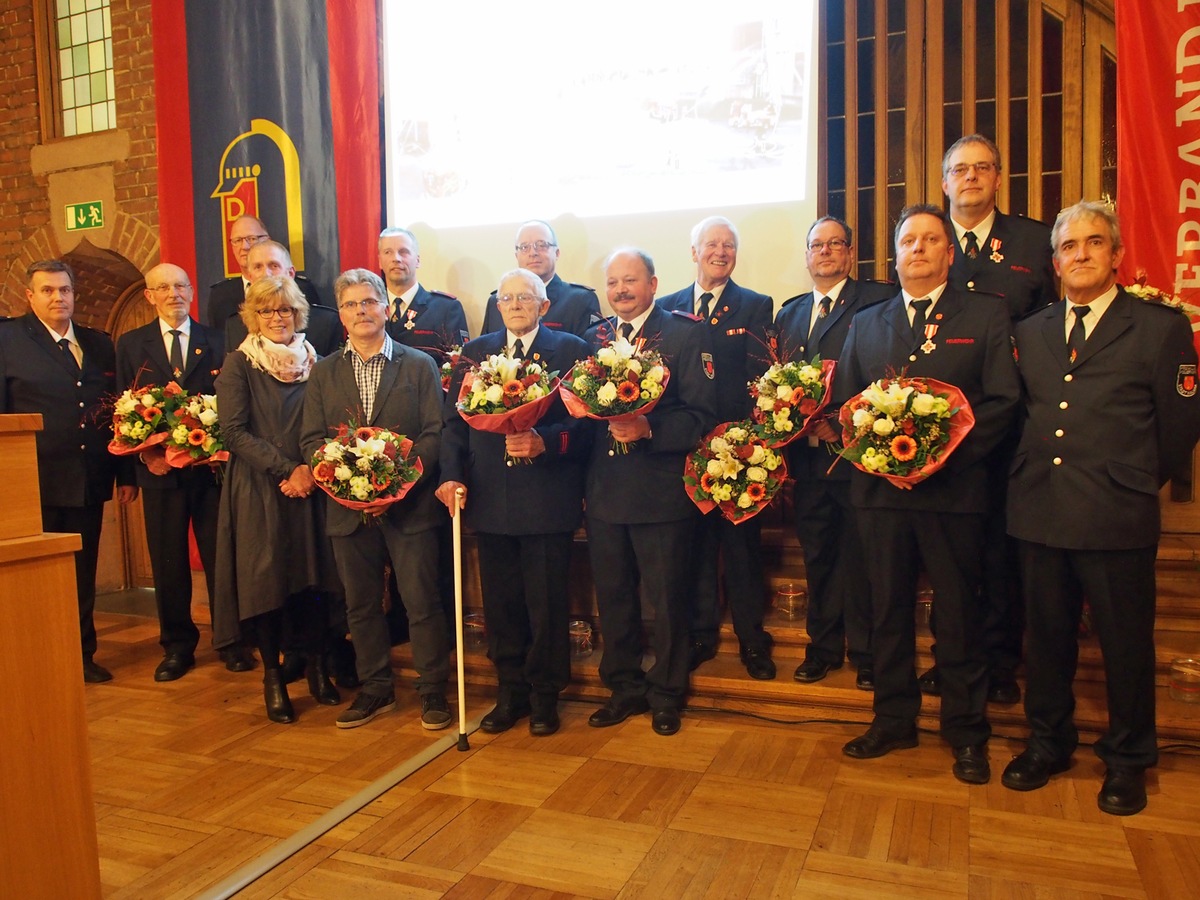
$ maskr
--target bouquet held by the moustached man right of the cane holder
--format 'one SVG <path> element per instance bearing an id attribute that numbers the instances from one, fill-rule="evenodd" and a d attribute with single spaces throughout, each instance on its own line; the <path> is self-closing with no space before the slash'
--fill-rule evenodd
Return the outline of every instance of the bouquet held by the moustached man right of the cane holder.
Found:
<path id="1" fill-rule="evenodd" d="M 658 350 L 618 337 L 575 364 L 563 379 L 563 403 L 576 419 L 623 421 L 653 410 L 670 380 Z M 628 454 L 629 445 L 613 439 L 614 452 Z"/>

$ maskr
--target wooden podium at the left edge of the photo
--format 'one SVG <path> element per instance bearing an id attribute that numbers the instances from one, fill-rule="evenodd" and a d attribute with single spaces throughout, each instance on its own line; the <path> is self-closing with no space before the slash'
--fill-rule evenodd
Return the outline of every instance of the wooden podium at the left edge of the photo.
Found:
<path id="1" fill-rule="evenodd" d="M 98 898 L 76 600 L 78 534 L 44 534 L 36 433 L 0 415 L 0 894 Z"/>

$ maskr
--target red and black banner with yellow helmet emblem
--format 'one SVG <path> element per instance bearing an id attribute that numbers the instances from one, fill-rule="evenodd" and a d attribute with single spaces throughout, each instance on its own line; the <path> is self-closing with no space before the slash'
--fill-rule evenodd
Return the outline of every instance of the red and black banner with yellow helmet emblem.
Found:
<path id="1" fill-rule="evenodd" d="M 374 269 L 380 222 L 374 2 L 155 0 L 162 259 L 204 289 L 239 272 L 229 227 L 262 218 L 332 301 Z"/>

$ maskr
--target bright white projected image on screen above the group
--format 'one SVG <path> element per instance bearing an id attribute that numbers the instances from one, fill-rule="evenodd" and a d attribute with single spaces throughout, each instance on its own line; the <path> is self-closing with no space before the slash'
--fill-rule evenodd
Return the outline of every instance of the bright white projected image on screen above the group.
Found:
<path id="1" fill-rule="evenodd" d="M 804 200 L 811 0 L 388 0 L 389 220 Z"/>

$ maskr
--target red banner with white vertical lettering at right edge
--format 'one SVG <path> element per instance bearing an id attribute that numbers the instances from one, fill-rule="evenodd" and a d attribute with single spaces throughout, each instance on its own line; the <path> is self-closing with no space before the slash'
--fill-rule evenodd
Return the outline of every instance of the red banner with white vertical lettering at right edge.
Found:
<path id="1" fill-rule="evenodd" d="M 1176 294 L 1200 329 L 1200 0 L 1121 0 L 1117 211 L 1123 284 Z M 1200 332 L 1198 332 L 1200 346 Z"/>

